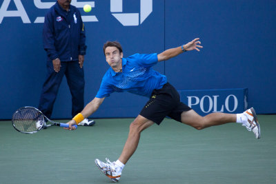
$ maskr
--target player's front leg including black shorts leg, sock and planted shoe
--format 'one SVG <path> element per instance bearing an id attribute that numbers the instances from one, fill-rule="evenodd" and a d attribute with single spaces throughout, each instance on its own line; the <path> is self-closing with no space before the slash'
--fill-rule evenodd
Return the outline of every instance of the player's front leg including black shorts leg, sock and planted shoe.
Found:
<path id="1" fill-rule="evenodd" d="M 121 152 L 121 156 L 119 156 L 116 162 L 111 163 L 108 159 L 106 159 L 107 163 L 103 163 L 99 159 L 95 160 L 101 172 L 110 177 L 112 181 L 119 181 L 124 165 L 137 149 L 141 132 L 153 123 L 159 125 L 170 111 L 175 108 L 175 102 L 172 98 L 173 95 L 170 95 L 169 91 L 170 85 L 166 84 L 160 90 L 154 90 L 152 92 L 149 101 L 141 110 L 139 116 L 130 124 L 128 139 Z"/>

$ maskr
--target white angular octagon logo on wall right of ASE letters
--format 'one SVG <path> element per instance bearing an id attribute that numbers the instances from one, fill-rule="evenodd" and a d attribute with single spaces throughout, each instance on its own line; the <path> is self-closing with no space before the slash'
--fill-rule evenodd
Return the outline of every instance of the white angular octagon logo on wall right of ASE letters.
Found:
<path id="1" fill-rule="evenodd" d="M 152 12 L 152 0 L 140 0 L 140 13 L 123 13 L 123 0 L 110 0 L 110 12 L 124 26 L 139 25 Z"/>

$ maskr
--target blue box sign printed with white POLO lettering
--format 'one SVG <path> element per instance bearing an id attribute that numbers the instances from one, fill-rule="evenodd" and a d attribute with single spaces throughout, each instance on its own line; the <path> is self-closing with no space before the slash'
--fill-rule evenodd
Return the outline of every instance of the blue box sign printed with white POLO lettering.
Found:
<path id="1" fill-rule="evenodd" d="M 241 113 L 248 108 L 248 89 L 179 90 L 183 103 L 201 116 L 212 112 Z"/>

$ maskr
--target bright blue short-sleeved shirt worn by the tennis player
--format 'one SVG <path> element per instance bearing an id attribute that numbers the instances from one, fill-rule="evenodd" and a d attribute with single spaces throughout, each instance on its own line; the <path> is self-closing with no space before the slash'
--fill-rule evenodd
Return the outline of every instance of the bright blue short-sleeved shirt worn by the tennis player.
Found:
<path id="1" fill-rule="evenodd" d="M 96 97 L 101 99 L 112 92 L 130 92 L 148 96 L 153 90 L 159 90 L 167 83 L 163 74 L 152 69 L 157 64 L 157 54 L 133 54 L 123 58 L 123 72 L 115 72 L 110 67 L 104 74 Z"/>

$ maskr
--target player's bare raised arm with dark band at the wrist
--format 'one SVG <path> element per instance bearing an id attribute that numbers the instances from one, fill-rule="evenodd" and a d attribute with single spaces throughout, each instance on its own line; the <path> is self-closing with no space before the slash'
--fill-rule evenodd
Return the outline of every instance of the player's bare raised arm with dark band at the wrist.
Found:
<path id="1" fill-rule="evenodd" d="M 176 57 L 177 55 L 189 50 L 200 51 L 199 48 L 203 48 L 200 44 L 201 42 L 199 41 L 199 38 L 197 38 L 197 39 L 194 39 L 193 41 L 186 43 L 185 45 L 181 45 L 177 48 L 170 48 L 168 50 L 165 50 L 164 52 L 157 54 L 158 61 L 165 61 L 165 60 L 171 59 L 172 57 Z"/>

